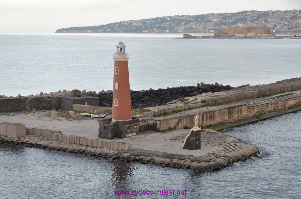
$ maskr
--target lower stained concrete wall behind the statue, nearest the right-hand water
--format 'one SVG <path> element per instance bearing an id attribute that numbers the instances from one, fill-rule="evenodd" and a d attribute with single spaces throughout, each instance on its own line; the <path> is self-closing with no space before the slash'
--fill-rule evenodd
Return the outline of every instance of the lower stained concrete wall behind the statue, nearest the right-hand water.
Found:
<path id="1" fill-rule="evenodd" d="M 200 115 L 198 123 L 199 126 L 206 127 L 224 123 L 226 121 L 247 118 L 253 115 L 279 111 L 298 105 L 301 105 L 301 94 L 298 96 L 289 95 L 282 98 L 275 98 L 271 101 L 256 102 L 252 105 L 234 103 L 214 106 L 210 107 L 209 109 L 207 107 L 202 107 L 187 111 L 185 113 L 181 112 L 177 115 L 170 115 L 168 117 L 149 118 L 148 121 L 152 124 L 152 127 L 149 129 L 161 131 L 168 130 L 169 127 L 174 129 L 183 129 L 185 126 L 192 128 L 194 125 L 195 116 L 197 114 Z M 146 121 L 141 122 L 141 126 L 145 126 L 145 123 Z"/>

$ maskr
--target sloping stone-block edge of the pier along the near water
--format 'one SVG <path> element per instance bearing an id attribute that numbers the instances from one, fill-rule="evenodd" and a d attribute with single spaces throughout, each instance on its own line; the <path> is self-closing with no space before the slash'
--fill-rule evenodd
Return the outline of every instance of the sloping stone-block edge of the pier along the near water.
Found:
<path id="1" fill-rule="evenodd" d="M 152 164 L 161 167 L 189 169 L 197 172 L 212 172 L 225 167 L 234 166 L 237 161 L 246 161 L 248 158 L 257 157 L 258 148 L 241 142 L 238 139 L 227 136 L 213 130 L 204 133 L 203 136 L 210 141 L 204 141 L 203 145 L 211 145 L 212 139 L 217 139 L 222 147 L 216 152 L 210 152 L 202 156 L 181 155 L 166 152 L 157 152 L 144 149 L 116 150 L 103 147 L 93 147 L 54 140 L 47 140 L 44 136 L 26 135 L 20 138 L 1 137 L 0 144 L 12 144 L 25 147 L 41 148 L 43 150 L 55 150 L 97 158 L 107 158 L 140 164 Z M 211 137 L 211 139 L 209 139 Z"/>

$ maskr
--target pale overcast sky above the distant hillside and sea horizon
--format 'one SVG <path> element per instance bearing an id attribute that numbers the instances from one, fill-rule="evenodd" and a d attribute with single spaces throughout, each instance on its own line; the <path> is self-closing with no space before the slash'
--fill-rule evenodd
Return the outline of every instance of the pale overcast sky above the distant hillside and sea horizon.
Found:
<path id="1" fill-rule="evenodd" d="M 0 0 L 0 32 L 55 32 L 173 15 L 301 9 L 301 0 Z"/>

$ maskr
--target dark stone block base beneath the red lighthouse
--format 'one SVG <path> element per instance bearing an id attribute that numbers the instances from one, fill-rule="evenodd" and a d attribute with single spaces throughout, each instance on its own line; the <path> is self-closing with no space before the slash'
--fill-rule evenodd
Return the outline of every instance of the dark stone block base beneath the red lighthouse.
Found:
<path id="1" fill-rule="evenodd" d="M 139 118 L 132 118 L 132 120 L 117 120 L 112 122 L 111 119 L 100 120 L 98 137 L 114 139 L 126 138 L 137 135 L 139 132 Z"/>

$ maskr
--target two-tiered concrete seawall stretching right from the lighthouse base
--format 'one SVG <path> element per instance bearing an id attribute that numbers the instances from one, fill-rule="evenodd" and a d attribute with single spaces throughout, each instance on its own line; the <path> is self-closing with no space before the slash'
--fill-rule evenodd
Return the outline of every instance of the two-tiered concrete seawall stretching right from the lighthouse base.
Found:
<path id="1" fill-rule="evenodd" d="M 152 111 L 139 115 L 139 117 L 144 116 L 146 118 L 140 121 L 139 128 L 141 128 L 139 132 L 147 128 L 154 131 L 163 131 L 171 128 L 192 128 L 197 114 L 200 115 L 198 125 L 206 127 L 298 106 L 301 105 L 301 90 L 298 90 L 299 88 L 301 89 L 301 80 L 296 78 L 296 80 L 285 80 L 268 85 L 242 87 L 225 92 L 203 93 L 202 95 L 187 97 L 185 99 L 191 104 L 186 106 L 191 106 L 194 108 L 193 110 L 185 110 L 187 107 L 184 108 L 185 105 L 181 101 L 178 101 L 176 104 L 148 108 L 152 109 Z M 207 105 L 225 104 L 196 108 L 196 106 L 204 104 L 195 103 L 200 101 L 205 101 Z M 151 118 L 155 109 L 158 110 L 157 113 L 175 110 L 184 111 L 165 117 Z M 150 118 L 147 118 L 147 116 Z"/>

